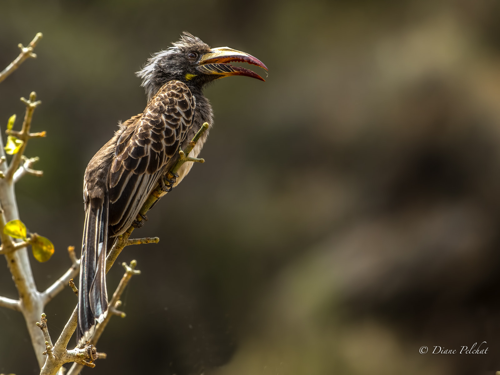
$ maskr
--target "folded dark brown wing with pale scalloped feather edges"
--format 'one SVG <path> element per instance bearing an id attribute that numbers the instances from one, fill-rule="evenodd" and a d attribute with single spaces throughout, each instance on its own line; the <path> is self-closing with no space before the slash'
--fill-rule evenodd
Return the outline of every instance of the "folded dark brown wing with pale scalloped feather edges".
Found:
<path id="1" fill-rule="evenodd" d="M 121 133 L 108 174 L 109 234 L 123 233 L 177 154 L 194 118 L 194 99 L 182 82 L 164 84 L 140 118 Z"/>

